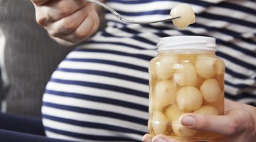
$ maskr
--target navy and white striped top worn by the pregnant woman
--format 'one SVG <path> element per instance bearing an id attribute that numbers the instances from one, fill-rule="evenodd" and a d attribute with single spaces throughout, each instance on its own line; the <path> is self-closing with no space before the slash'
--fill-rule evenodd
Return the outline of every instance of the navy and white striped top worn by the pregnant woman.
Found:
<path id="1" fill-rule="evenodd" d="M 185 2 L 196 23 L 179 31 L 172 22 L 122 23 L 106 13 L 107 27 L 73 50 L 53 73 L 43 96 L 46 135 L 73 141 L 141 141 L 147 131 L 149 60 L 159 38 L 216 38 L 226 65 L 225 96 L 256 104 L 256 2 L 254 0 L 110 0 L 134 20 L 169 16 Z"/>

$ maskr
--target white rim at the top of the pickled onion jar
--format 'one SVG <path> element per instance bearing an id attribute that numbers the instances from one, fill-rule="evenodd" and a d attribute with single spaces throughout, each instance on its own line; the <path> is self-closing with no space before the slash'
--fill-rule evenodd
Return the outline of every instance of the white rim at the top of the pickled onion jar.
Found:
<path id="1" fill-rule="evenodd" d="M 213 50 L 216 51 L 217 45 L 215 38 L 197 35 L 178 35 L 159 38 L 156 45 L 157 50 Z"/>

